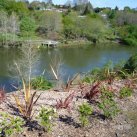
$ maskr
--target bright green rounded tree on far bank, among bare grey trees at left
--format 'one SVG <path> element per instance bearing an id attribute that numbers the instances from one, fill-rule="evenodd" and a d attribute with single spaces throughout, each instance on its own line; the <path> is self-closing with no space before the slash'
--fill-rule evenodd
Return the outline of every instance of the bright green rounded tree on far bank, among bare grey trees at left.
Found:
<path id="1" fill-rule="evenodd" d="M 20 31 L 23 37 L 28 38 L 34 35 L 35 30 L 36 30 L 36 24 L 33 19 L 29 17 L 22 18 L 21 23 L 20 23 Z"/>

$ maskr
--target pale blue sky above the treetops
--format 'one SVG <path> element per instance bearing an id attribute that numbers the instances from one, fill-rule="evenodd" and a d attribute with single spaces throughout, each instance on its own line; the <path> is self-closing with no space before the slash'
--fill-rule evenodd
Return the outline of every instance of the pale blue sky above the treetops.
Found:
<path id="1" fill-rule="evenodd" d="M 33 1 L 33 0 L 29 0 Z M 42 1 L 42 0 L 39 0 Z M 65 4 L 67 0 L 53 0 L 54 4 Z M 129 6 L 131 8 L 137 7 L 137 0 L 90 0 L 93 7 L 112 7 L 123 8 Z"/>

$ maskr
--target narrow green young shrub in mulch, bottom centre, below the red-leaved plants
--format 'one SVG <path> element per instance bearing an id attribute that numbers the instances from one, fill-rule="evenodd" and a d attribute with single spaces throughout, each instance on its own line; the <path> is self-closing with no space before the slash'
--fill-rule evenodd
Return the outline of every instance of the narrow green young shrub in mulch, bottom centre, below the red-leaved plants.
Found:
<path id="1" fill-rule="evenodd" d="M 89 124 L 89 117 L 93 112 L 93 109 L 91 106 L 87 103 L 83 103 L 82 105 L 79 106 L 78 112 L 80 113 L 80 122 L 82 127 L 86 126 Z"/>

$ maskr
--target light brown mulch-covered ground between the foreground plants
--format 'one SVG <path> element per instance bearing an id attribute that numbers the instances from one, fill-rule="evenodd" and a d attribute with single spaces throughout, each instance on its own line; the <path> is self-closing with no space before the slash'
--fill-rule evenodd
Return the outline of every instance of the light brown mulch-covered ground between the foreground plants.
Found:
<path id="1" fill-rule="evenodd" d="M 42 92 L 40 99 L 34 106 L 35 114 L 39 113 L 41 106 L 55 107 L 56 100 L 65 99 L 70 93 L 75 91 L 75 97 L 71 104 L 71 110 L 58 109 L 58 117 L 53 120 L 53 128 L 50 133 L 39 129 L 39 126 L 24 127 L 24 132 L 14 137 L 137 137 L 137 84 L 134 85 L 131 97 L 120 99 L 118 90 L 125 86 L 126 80 L 115 81 L 111 86 L 115 89 L 116 98 L 120 113 L 113 120 L 105 119 L 102 112 L 97 107 L 97 100 L 89 102 L 94 109 L 87 127 L 81 127 L 79 121 L 78 106 L 86 99 L 81 97 L 81 91 L 78 86 L 71 88 L 70 92 L 57 92 L 53 90 L 38 91 L 37 95 Z M 1 108 L 6 112 L 17 115 L 14 105 L 13 93 L 7 94 L 7 99 Z M 15 94 L 22 94 L 15 92 Z M 22 95 L 20 95 L 22 99 Z M 8 103 L 7 103 L 8 102 Z M 15 105 L 14 105 L 15 106 Z M 34 117 L 35 118 L 35 117 Z M 34 119 L 35 120 L 35 119 Z M 34 122 L 35 125 L 35 122 Z"/>

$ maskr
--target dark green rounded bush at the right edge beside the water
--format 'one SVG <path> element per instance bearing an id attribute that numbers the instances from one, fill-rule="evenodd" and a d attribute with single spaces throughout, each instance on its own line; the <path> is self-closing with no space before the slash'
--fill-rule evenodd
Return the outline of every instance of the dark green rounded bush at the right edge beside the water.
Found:
<path id="1" fill-rule="evenodd" d="M 124 65 L 124 70 L 128 73 L 137 71 L 137 54 L 131 56 Z"/>

